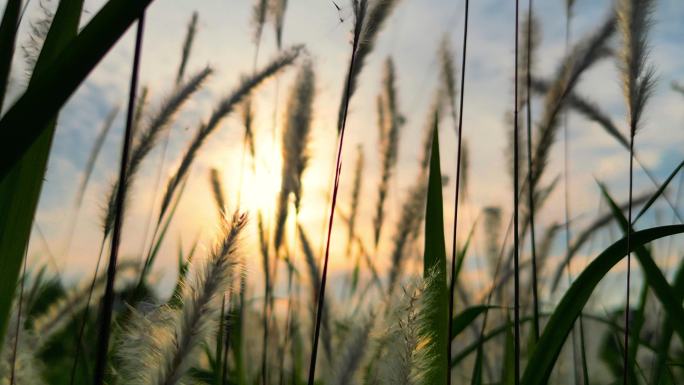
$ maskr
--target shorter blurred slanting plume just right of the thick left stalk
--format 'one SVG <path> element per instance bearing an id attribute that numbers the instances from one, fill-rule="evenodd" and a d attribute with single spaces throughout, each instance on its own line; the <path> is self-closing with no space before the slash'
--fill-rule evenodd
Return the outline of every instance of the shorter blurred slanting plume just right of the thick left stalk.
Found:
<path id="1" fill-rule="evenodd" d="M 171 96 L 166 99 L 159 110 L 149 120 L 149 123 L 142 128 L 142 131 L 137 133 L 134 138 L 133 149 L 128 160 L 128 171 L 126 173 L 126 180 L 124 181 L 124 188 L 130 188 L 135 176 L 140 169 L 145 157 L 152 151 L 154 146 L 158 143 L 162 132 L 168 127 L 173 119 L 173 116 L 178 112 L 181 106 L 190 98 L 190 96 L 200 89 L 204 80 L 212 73 L 211 68 L 207 67 L 195 75 L 193 75 L 184 85 L 179 86 Z M 107 207 L 104 215 L 104 237 L 109 235 L 112 225 L 114 224 L 114 216 L 116 214 L 116 191 L 118 182 L 112 186 L 107 199 Z"/>

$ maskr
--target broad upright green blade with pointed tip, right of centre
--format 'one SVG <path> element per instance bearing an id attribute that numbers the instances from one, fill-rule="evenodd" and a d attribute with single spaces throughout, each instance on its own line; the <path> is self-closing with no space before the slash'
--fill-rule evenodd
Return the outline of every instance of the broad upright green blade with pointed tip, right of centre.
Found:
<path id="1" fill-rule="evenodd" d="M 427 349 L 429 364 L 425 371 L 426 383 L 445 384 L 449 358 L 448 346 L 448 295 L 446 274 L 446 248 L 444 244 L 444 217 L 442 207 L 442 172 L 439 164 L 439 135 L 435 127 L 430 157 L 427 206 L 425 211 L 425 254 L 423 277 L 427 284 L 425 295 L 430 301 L 425 315 L 432 338 Z"/>

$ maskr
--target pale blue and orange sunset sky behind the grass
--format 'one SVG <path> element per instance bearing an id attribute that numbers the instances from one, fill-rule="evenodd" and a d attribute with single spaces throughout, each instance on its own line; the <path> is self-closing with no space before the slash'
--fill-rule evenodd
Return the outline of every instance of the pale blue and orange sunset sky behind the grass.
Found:
<path id="1" fill-rule="evenodd" d="M 55 2 L 44 0 L 48 7 L 54 7 Z M 38 17 L 37 3 L 38 0 L 34 0 L 29 6 L 20 39 L 27 37 L 26 21 Z M 471 3 L 462 111 L 464 140 L 470 149 L 470 170 L 468 198 L 463 203 L 463 221 L 458 229 L 461 234 L 459 239 L 465 237 L 482 208 L 501 207 L 504 223 L 511 213 L 512 197 L 509 191 L 512 181 L 509 170 L 512 166 L 508 162 L 506 148 L 510 136 L 507 116 L 513 106 L 514 3 L 500 0 Z M 102 0 L 86 0 L 83 23 L 102 4 Z M 285 15 L 284 46 L 305 44 L 316 72 L 315 112 L 309 147 L 312 159 L 304 173 L 304 203 L 299 215 L 314 245 L 319 245 L 322 240 L 323 221 L 327 220 L 329 213 L 326 194 L 331 185 L 332 156 L 336 146 L 337 108 L 351 50 L 351 6 L 345 0 L 339 0 L 337 4 L 341 7 L 339 11 L 330 0 L 290 0 Z M 611 1 L 576 1 L 569 41 L 576 42 L 590 33 L 606 17 L 612 4 Z M 196 73 L 209 65 L 214 69 L 214 74 L 176 116 L 170 128 L 169 146 L 163 165 L 162 146 L 158 146 L 146 160 L 133 186 L 123 233 L 124 257 L 139 258 L 147 247 L 144 235 L 148 234 L 149 238 L 147 224 L 150 215 L 157 213 L 161 194 L 155 187 L 157 181 L 161 180 L 161 186 L 165 184 L 194 130 L 206 120 L 217 101 L 237 85 L 240 77 L 252 71 L 255 56 L 252 7 L 253 3 L 247 0 L 156 0 L 149 7 L 140 81 L 149 89 L 150 108 L 159 106 L 164 96 L 173 89 L 186 25 L 194 11 L 199 14 L 199 27 L 187 73 Z M 360 233 L 370 243 L 370 236 L 366 237 L 365 234 L 371 232 L 380 177 L 375 98 L 380 92 L 382 64 L 385 58 L 392 57 L 397 72 L 399 110 L 406 118 L 406 124 L 402 127 L 399 161 L 389 191 L 387 222 L 375 258 L 382 269 L 389 265 L 388 251 L 400 207 L 407 189 L 415 183 L 418 172 L 424 128 L 439 81 L 436 54 L 445 37 L 456 54 L 455 61 L 461 62 L 463 9 L 462 0 L 399 0 L 366 61 L 358 91 L 350 104 L 338 209 L 348 211 L 355 151 L 361 145 L 367 167 L 363 176 L 359 226 Z M 535 13 L 542 30 L 535 73 L 548 78 L 554 73 L 566 49 L 565 2 L 535 2 Z M 637 136 L 636 152 L 642 163 L 659 180 L 663 180 L 681 161 L 684 153 L 684 98 L 670 88 L 672 81 L 684 81 L 681 48 L 684 7 L 679 0 L 658 1 L 654 20 L 650 61 L 655 65 L 658 83 L 645 112 L 644 127 Z M 617 39 L 615 43 L 618 43 Z M 29 248 L 31 266 L 47 264 L 71 280 L 89 276 L 94 270 L 101 242 L 104 201 L 118 170 L 132 48 L 133 31 L 129 31 L 60 113 Z M 275 53 L 273 28 L 267 24 L 257 66 L 266 63 Z M 16 55 L 15 64 L 11 92 L 16 96 L 26 84 L 21 54 Z M 243 173 L 241 194 L 243 209 L 252 214 L 257 208 L 272 212 L 275 205 L 275 194 L 280 185 L 280 149 L 277 143 L 273 147 L 272 140 L 274 102 L 279 101 L 275 116 L 277 121 L 282 122 L 285 113 L 283 106 L 295 72 L 293 69 L 286 70 L 254 94 L 257 111 L 257 175 Z M 615 60 L 604 60 L 592 68 L 581 79 L 578 92 L 608 111 L 618 127 L 626 132 L 625 103 Z M 535 116 L 539 114 L 540 102 L 539 98 L 533 101 Z M 96 163 L 84 205 L 76 214 L 73 202 L 89 151 L 102 121 L 115 106 L 119 106 L 121 112 Z M 453 127 L 454 122 L 448 117 L 442 120 L 442 172 L 450 176 L 443 191 L 447 234 L 453 228 L 453 200 L 450 199 L 455 175 L 456 137 Z M 276 132 L 279 130 L 280 124 L 276 124 Z M 568 195 L 572 227 L 578 231 L 582 224 L 588 223 L 596 215 L 599 205 L 596 180 L 606 182 L 619 200 L 626 198 L 628 154 L 601 128 L 576 114 L 568 117 L 568 133 Z M 168 288 L 173 280 L 179 247 L 187 251 L 193 241 L 199 239 L 202 254 L 209 249 L 216 235 L 216 210 L 207 182 L 210 168 L 221 170 L 229 206 L 234 208 L 241 174 L 242 135 L 239 114 L 233 114 L 212 134 L 192 167 L 183 200 L 155 266 L 155 276 L 161 281 L 162 287 Z M 556 142 L 545 182 L 562 175 L 562 157 L 562 143 Z M 635 186 L 637 192 L 653 189 L 639 169 L 635 171 Z M 562 220 L 562 187 L 554 191 L 539 213 L 541 227 Z M 674 190 L 670 196 L 674 199 Z M 666 209 L 667 206 L 658 203 L 654 211 L 666 213 L 665 219 L 646 218 L 644 225 L 653 224 L 656 220 L 670 221 L 671 214 Z M 254 227 L 255 215 L 252 215 L 252 219 L 251 226 Z M 333 271 L 340 273 L 346 271 L 351 262 L 343 255 L 346 243 L 344 225 L 339 217 L 336 221 L 331 264 Z M 76 224 L 73 236 L 69 235 L 71 223 Z M 257 241 L 254 234 L 253 230 L 248 231 L 245 237 L 248 246 L 243 254 L 247 260 L 248 273 L 254 279 L 259 279 L 260 257 L 254 248 Z M 484 250 L 483 236 L 480 232 L 477 234 L 474 253 L 481 254 Z M 451 249 L 450 239 L 448 235 L 447 250 Z M 560 236 L 559 245 L 554 248 L 556 257 L 562 254 L 560 243 L 563 239 Z M 596 250 L 601 244 L 607 246 L 609 242 L 609 236 L 601 237 L 595 245 Z M 583 260 L 586 261 L 591 252 L 584 250 Z M 477 266 L 469 266 L 468 272 L 468 277 L 478 279 Z M 619 277 L 618 274 L 614 279 Z M 475 286 L 485 284 L 473 283 Z"/>

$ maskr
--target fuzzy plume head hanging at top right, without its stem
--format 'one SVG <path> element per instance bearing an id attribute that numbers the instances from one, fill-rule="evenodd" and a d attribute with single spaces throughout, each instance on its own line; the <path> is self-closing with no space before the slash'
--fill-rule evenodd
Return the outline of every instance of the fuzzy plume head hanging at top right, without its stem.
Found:
<path id="1" fill-rule="evenodd" d="M 655 82 L 655 70 L 646 63 L 650 50 L 648 30 L 654 7 L 653 0 L 620 0 L 617 7 L 618 28 L 623 40 L 619 62 L 631 136 L 639 129 L 644 106 Z"/>

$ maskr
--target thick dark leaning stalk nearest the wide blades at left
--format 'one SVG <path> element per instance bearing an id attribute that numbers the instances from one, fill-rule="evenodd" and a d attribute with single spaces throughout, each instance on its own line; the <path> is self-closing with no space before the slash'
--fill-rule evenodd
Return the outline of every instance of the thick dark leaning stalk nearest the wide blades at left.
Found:
<path id="1" fill-rule="evenodd" d="M 128 158 L 133 134 L 133 114 L 135 111 L 135 94 L 138 88 L 138 72 L 140 70 L 140 55 L 142 53 L 143 31 L 145 29 L 145 11 L 138 17 L 138 29 L 135 38 L 135 53 L 133 54 L 133 71 L 128 97 L 128 112 L 126 114 L 126 130 L 121 150 L 121 166 L 119 168 L 119 181 L 117 188 L 117 210 L 112 232 L 111 252 L 109 255 L 109 267 L 107 269 L 107 286 L 102 304 L 101 325 L 98 331 L 97 351 L 95 359 L 94 384 L 102 385 L 107 367 L 107 352 L 109 350 L 109 336 L 111 334 L 111 320 L 114 305 L 114 280 L 116 279 L 116 261 L 119 254 L 121 241 L 121 227 L 123 224 L 123 210 L 126 194 L 126 174 L 128 172 Z"/>

